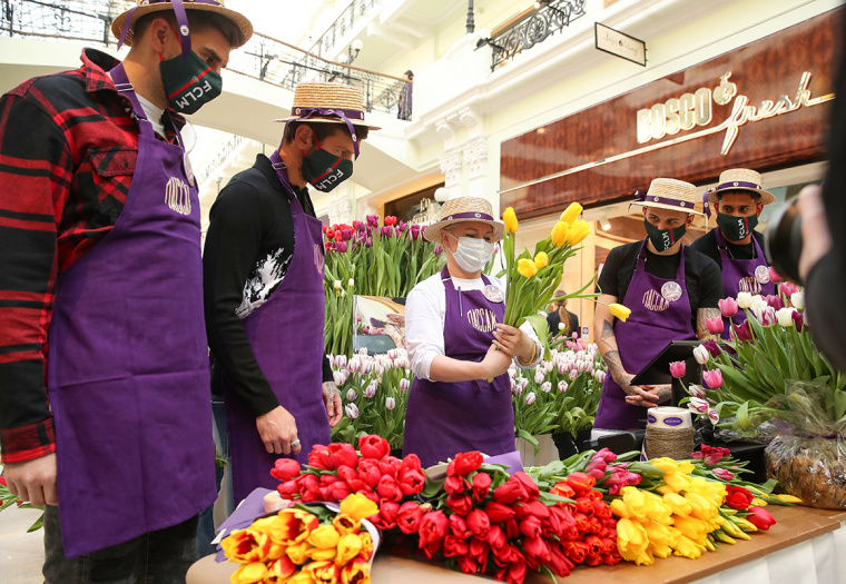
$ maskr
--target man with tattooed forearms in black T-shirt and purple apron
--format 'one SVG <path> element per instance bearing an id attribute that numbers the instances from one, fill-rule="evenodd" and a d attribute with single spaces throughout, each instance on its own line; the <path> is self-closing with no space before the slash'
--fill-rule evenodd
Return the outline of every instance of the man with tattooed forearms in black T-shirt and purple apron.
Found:
<path id="1" fill-rule="evenodd" d="M 638 196 L 647 237 L 611 250 L 597 286 L 594 317 L 599 352 L 609 375 L 602 385 L 596 428 L 637 429 L 646 408 L 670 398 L 669 385 L 632 386 L 631 379 L 671 340 L 707 338 L 706 318 L 719 315 L 721 281 L 716 264 L 685 247 L 681 238 L 693 220 L 696 187 L 669 178 L 652 180 Z M 616 320 L 608 305 L 631 310 Z"/>

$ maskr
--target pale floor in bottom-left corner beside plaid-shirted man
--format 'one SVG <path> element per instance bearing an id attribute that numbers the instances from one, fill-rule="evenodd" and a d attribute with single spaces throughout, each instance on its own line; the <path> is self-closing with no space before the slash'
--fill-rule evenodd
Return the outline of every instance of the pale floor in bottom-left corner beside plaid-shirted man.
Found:
<path id="1" fill-rule="evenodd" d="M 17 507 L 0 513 L 0 584 L 43 582 L 43 531 L 27 533 L 40 514 Z"/>

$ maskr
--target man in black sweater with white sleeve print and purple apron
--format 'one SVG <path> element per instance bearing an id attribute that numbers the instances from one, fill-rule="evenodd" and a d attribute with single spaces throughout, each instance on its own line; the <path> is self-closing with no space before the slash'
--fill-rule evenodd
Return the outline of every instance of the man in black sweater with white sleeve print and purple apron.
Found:
<path id="1" fill-rule="evenodd" d="M 235 501 L 273 488 L 274 462 L 329 443 L 341 395 L 324 355 L 324 247 L 306 189 L 353 174 L 370 129 L 358 89 L 302 83 L 279 148 L 233 177 L 209 215 L 208 343 L 224 376 Z"/>

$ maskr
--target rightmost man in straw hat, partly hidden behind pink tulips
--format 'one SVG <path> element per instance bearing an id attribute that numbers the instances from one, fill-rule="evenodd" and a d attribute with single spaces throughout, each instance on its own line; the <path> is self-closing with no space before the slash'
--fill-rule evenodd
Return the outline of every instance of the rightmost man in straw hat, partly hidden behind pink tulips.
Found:
<path id="1" fill-rule="evenodd" d="M 769 279 L 769 266 L 761 245 L 764 236 L 755 230 L 765 205 L 776 197 L 761 187 L 760 175 L 755 170 L 735 168 L 720 174 L 719 184 L 706 192 L 705 211 L 717 212 L 717 227 L 693 241 L 690 247 L 714 259 L 722 271 L 722 297 L 737 297 L 747 291 L 764 296 L 776 293 Z M 722 318 L 722 338 L 728 339 L 731 327 L 746 320 L 739 310 L 732 319 Z"/>

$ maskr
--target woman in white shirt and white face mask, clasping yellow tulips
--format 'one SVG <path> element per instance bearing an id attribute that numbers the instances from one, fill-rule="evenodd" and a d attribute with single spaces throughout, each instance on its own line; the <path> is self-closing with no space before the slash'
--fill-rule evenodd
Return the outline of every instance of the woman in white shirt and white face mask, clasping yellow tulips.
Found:
<path id="1" fill-rule="evenodd" d="M 531 325 L 502 324 L 505 287 L 482 274 L 503 225 L 491 204 L 460 197 L 441 207 L 423 237 L 446 250 L 440 274 L 417 284 L 405 304 L 405 340 L 414 372 L 403 455 L 423 466 L 458 453 L 514 451 L 512 362 L 533 367 L 541 344 Z"/>

